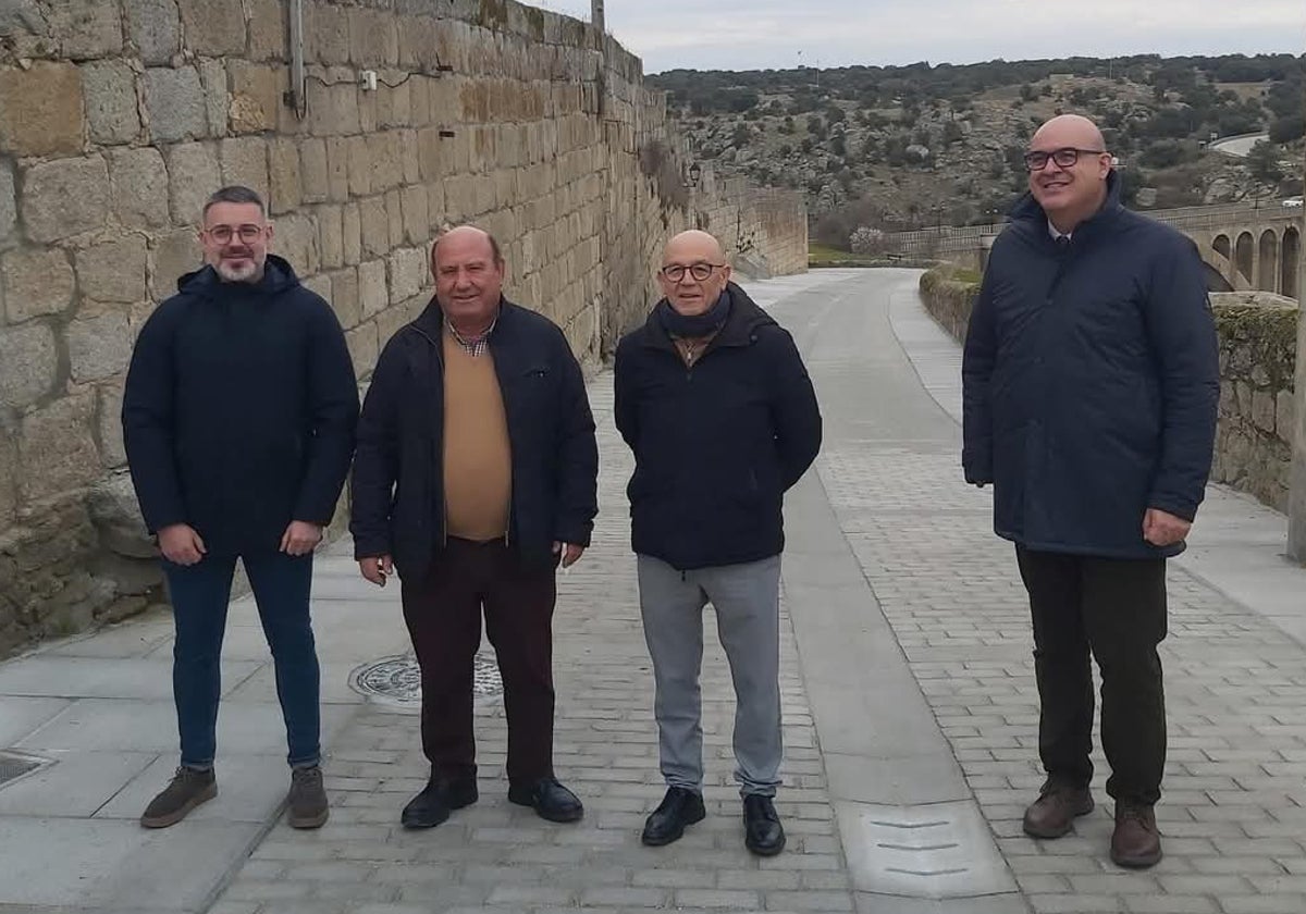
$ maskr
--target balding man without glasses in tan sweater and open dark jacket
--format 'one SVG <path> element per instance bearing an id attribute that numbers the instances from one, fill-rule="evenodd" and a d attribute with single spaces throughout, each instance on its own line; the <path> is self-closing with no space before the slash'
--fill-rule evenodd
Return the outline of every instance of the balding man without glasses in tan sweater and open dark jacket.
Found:
<path id="1" fill-rule="evenodd" d="M 598 513 L 598 448 L 585 381 L 547 317 L 503 296 L 504 261 L 461 226 L 431 249 L 435 298 L 385 345 L 354 461 L 354 556 L 401 581 L 422 669 L 427 786 L 405 828 L 478 798 L 473 658 L 481 616 L 508 717 L 508 799 L 576 821 L 552 768 L 555 571 L 585 551 Z"/>

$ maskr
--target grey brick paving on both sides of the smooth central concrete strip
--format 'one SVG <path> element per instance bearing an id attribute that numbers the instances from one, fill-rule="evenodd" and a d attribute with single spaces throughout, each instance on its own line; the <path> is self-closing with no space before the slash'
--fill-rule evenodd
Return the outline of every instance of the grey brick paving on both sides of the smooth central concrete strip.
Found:
<path id="1" fill-rule="evenodd" d="M 921 383 L 951 376 L 956 347 L 918 324 L 895 324 L 918 317 L 914 276 L 832 278 L 819 294 L 778 285 L 769 300 L 795 330 L 821 397 L 819 482 L 879 602 L 862 611 L 883 611 L 960 763 L 1021 889 L 1023 898 L 1006 896 L 1011 914 L 1306 911 L 1306 649 L 1174 564 L 1162 646 L 1170 752 L 1157 808 L 1165 860 L 1147 872 L 1107 860 L 1100 756 L 1098 810 L 1059 841 L 1021 834 L 1020 815 L 1042 781 L 1028 607 L 1011 547 L 991 534 L 990 496 L 961 482 L 956 423 Z M 503 716 L 488 699 L 477 717 L 481 802 L 434 830 L 402 830 L 398 812 L 426 777 L 418 722 L 368 705 L 333 743 L 332 821 L 316 833 L 276 825 L 214 914 L 867 910 L 840 842 L 788 615 L 788 786 L 777 806 L 789 849 L 759 860 L 742 846 L 729 672 L 713 637 L 704 659 L 708 819 L 669 847 L 639 843 L 662 785 L 627 539 L 629 456 L 611 424 L 609 376 L 594 381 L 592 400 L 602 511 L 592 550 L 560 578 L 555 620 L 556 766 L 585 800 L 585 820 L 551 825 L 507 803 Z M 974 901 L 981 910 L 985 900 Z M 982 910 L 1006 914 L 1007 901 L 987 902 Z M 936 904 L 902 898 L 874 910 L 944 910 Z"/>

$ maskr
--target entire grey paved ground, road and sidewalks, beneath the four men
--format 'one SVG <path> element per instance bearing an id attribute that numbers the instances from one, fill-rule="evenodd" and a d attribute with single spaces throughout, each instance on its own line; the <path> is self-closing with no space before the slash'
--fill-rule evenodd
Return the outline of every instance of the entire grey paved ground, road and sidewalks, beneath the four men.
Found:
<path id="1" fill-rule="evenodd" d="M 1281 556 L 1282 516 L 1222 490 L 1170 575 L 1166 859 L 1144 874 L 1106 860 L 1101 777 L 1101 806 L 1072 836 L 1020 834 L 1041 782 L 1028 608 L 989 494 L 960 479 L 959 351 L 921 311 L 916 277 L 748 283 L 794 330 L 827 419 L 818 471 L 788 499 L 782 855 L 742 846 L 729 670 L 712 635 L 708 819 L 669 847 L 639 843 L 662 785 L 631 458 L 599 375 L 601 516 L 559 578 L 555 622 L 556 766 L 582 823 L 507 803 L 490 696 L 479 803 L 431 832 L 398 828 L 426 778 L 415 709 L 350 685 L 407 649 L 397 589 L 360 581 L 341 543 L 315 576 L 328 825 L 278 821 L 285 738 L 248 598 L 229 628 L 218 799 L 162 833 L 136 825 L 175 764 L 171 623 L 136 619 L 0 663 L 0 749 L 55 760 L 0 787 L 0 914 L 1306 910 L 1306 572 Z"/>

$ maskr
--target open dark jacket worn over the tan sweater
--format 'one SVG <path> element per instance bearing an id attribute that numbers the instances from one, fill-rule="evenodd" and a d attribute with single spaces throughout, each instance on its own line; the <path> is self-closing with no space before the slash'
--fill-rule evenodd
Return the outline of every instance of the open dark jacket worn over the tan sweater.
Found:
<path id="1" fill-rule="evenodd" d="M 421 581 L 447 544 L 444 315 L 426 311 L 385 343 L 358 426 L 350 487 L 358 559 L 389 555 Z M 524 564 L 552 564 L 554 542 L 589 546 L 598 513 L 598 445 L 585 377 L 563 332 L 507 299 L 490 334 L 512 445 L 508 543 Z"/>

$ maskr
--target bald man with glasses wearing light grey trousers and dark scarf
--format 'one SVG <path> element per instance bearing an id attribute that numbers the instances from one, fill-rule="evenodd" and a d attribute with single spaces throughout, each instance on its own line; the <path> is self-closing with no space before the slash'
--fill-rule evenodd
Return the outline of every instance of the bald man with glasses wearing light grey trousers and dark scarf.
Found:
<path id="1" fill-rule="evenodd" d="M 734 678 L 744 846 L 785 846 L 780 785 L 781 505 L 820 449 L 811 380 L 789 333 L 737 285 L 712 235 L 666 245 L 665 298 L 616 349 L 616 427 L 635 452 L 631 541 L 667 791 L 643 841 L 707 815 L 699 672 L 710 601 Z"/>

